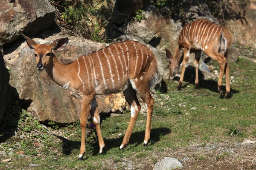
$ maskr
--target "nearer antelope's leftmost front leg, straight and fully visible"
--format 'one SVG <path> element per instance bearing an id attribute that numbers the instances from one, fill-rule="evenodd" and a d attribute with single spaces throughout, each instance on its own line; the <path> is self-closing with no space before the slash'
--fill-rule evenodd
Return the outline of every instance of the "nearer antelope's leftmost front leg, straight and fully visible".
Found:
<path id="1" fill-rule="evenodd" d="M 78 160 L 81 161 L 84 159 L 85 153 L 85 130 L 87 125 L 87 120 L 90 112 L 91 101 L 93 98 L 84 97 L 81 101 L 82 108 L 81 108 L 81 119 L 80 119 L 80 126 L 82 129 L 82 138 L 81 138 L 81 147 L 80 147 L 80 154 Z"/>

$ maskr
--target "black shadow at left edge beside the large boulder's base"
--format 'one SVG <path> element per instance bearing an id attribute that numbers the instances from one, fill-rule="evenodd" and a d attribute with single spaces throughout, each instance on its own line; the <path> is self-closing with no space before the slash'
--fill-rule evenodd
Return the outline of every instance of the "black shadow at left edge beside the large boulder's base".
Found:
<path id="1" fill-rule="evenodd" d="M 15 135 L 22 109 L 27 109 L 32 100 L 19 99 L 16 88 L 11 87 L 12 95 L 9 105 L 0 123 L 0 143 Z"/>

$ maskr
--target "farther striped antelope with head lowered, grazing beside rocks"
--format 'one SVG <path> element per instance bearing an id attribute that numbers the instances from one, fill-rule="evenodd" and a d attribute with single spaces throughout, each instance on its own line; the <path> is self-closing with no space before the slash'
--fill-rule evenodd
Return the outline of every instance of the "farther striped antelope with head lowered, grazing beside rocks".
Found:
<path id="1" fill-rule="evenodd" d="M 227 54 L 233 42 L 230 31 L 218 24 L 208 20 L 195 20 L 184 26 L 180 32 L 178 46 L 174 56 L 166 49 L 166 57 L 169 59 L 169 79 L 173 79 L 182 62 L 182 72 L 179 85 L 180 90 L 183 83 L 184 72 L 189 60 L 190 51 L 195 53 L 195 89 L 198 89 L 198 64 L 203 50 L 206 55 L 215 59 L 220 64 L 220 74 L 218 79 L 218 91 L 222 95 L 222 77 L 225 71 L 226 75 L 226 94 L 230 93 L 229 66 L 227 63 Z"/>

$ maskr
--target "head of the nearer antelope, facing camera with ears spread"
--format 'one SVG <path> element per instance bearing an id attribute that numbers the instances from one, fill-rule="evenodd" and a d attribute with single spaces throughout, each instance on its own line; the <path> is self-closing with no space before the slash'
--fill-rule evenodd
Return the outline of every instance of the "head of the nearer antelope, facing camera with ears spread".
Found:
<path id="1" fill-rule="evenodd" d="M 68 38 L 61 38 L 55 40 L 51 44 L 38 44 L 37 42 L 35 42 L 34 40 L 25 35 L 23 35 L 23 37 L 26 39 L 29 48 L 35 50 L 34 56 L 36 68 L 38 70 L 43 70 L 44 68 L 47 68 L 49 63 L 52 63 L 52 58 L 54 57 L 53 51 L 63 50 L 67 46 L 68 42 Z"/>

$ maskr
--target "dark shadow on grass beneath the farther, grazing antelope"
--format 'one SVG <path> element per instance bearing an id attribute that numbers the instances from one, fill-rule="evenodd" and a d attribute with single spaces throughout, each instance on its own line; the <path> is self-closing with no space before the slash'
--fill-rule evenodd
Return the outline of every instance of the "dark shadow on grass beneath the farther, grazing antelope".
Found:
<path id="1" fill-rule="evenodd" d="M 175 76 L 174 81 L 179 81 L 180 77 Z M 185 82 L 183 82 L 181 88 L 186 88 L 188 85 L 193 84 L 195 85 L 195 67 L 189 65 L 184 73 L 184 79 Z M 218 92 L 218 82 L 213 79 L 204 79 L 203 72 L 198 69 L 198 89 L 208 89 L 210 91 L 213 91 L 215 93 Z M 186 83 L 187 82 L 187 83 Z M 222 85 L 223 95 L 220 96 L 220 98 L 223 98 L 225 95 L 226 86 Z M 239 91 L 233 89 L 230 87 L 230 97 L 232 97 L 233 94 L 239 93 Z"/>

